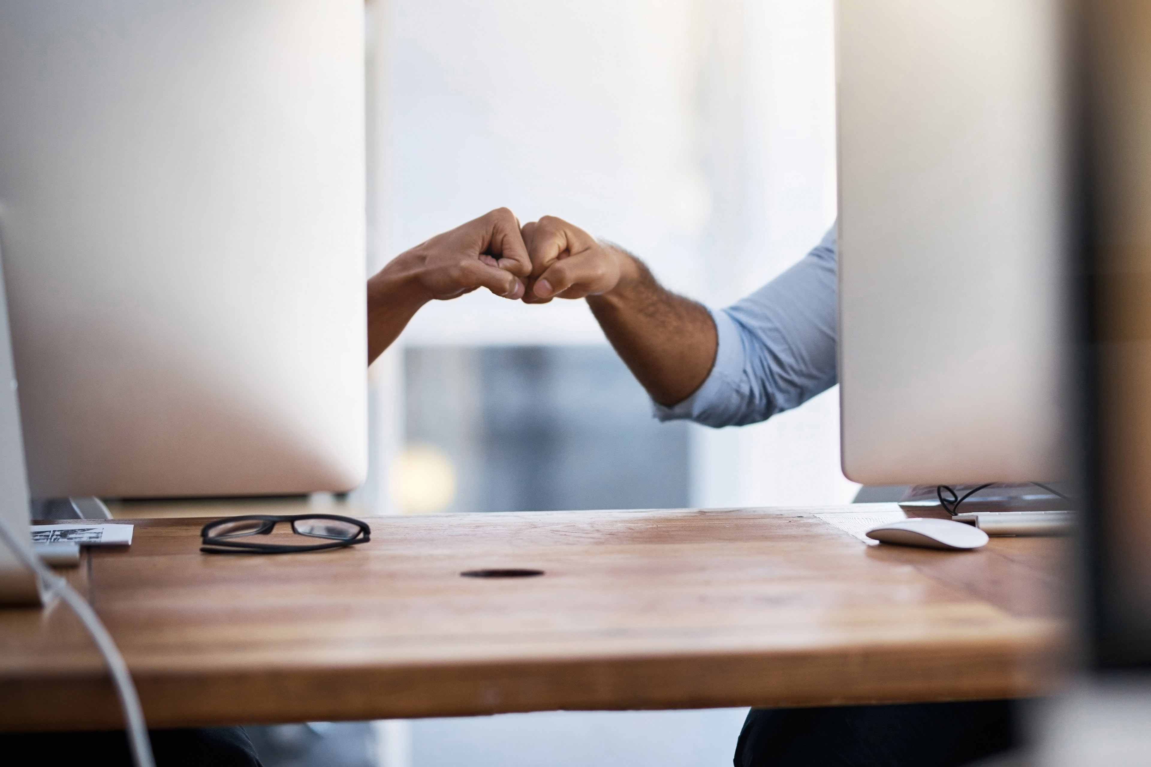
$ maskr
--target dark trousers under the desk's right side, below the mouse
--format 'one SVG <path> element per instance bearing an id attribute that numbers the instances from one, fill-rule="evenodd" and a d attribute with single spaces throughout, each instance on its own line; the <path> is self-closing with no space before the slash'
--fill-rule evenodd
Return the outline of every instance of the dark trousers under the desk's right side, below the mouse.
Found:
<path id="1" fill-rule="evenodd" d="M 753 708 L 735 767 L 960 767 L 1019 745 L 1009 700 Z"/>

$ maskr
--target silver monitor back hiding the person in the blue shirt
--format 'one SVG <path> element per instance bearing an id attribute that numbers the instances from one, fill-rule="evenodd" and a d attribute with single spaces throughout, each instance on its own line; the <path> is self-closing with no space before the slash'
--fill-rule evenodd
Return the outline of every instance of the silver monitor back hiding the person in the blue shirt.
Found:
<path id="1" fill-rule="evenodd" d="M 1066 477 L 1064 3 L 839 0 L 844 473 Z"/>

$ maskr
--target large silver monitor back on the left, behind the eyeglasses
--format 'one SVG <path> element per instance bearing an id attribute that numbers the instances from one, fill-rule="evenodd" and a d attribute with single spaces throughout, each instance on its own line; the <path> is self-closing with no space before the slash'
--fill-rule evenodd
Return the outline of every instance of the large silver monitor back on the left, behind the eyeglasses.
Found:
<path id="1" fill-rule="evenodd" d="M 363 481 L 363 16 L 0 0 L 0 246 L 35 498 Z"/>

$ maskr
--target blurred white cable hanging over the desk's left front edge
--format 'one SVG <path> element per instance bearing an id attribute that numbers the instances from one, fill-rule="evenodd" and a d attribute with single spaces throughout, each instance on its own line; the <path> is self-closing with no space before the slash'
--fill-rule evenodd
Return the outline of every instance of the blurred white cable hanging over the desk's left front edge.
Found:
<path id="1" fill-rule="evenodd" d="M 155 760 L 152 758 L 152 743 L 147 738 L 147 724 L 144 723 L 144 711 L 140 708 L 139 696 L 136 695 L 136 685 L 132 683 L 131 674 L 128 673 L 124 657 L 120 654 L 108 629 L 104 628 L 100 616 L 96 614 L 87 600 L 71 588 L 68 581 L 53 573 L 35 553 L 20 545 L 20 539 L 2 516 L 0 516 L 0 538 L 3 538 L 16 557 L 39 576 L 49 595 L 59 596 L 73 608 L 84 628 L 92 635 L 92 639 L 99 647 L 100 654 L 104 655 L 104 662 L 107 664 L 108 672 L 112 674 L 116 695 L 120 697 L 132 762 L 136 767 L 155 767 Z"/>

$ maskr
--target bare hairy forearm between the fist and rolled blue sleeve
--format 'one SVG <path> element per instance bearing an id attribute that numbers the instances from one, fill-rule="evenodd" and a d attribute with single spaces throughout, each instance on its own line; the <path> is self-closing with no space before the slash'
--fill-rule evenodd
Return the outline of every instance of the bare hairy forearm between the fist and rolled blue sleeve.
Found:
<path id="1" fill-rule="evenodd" d="M 711 314 L 664 289 L 635 256 L 623 256 L 619 283 L 588 296 L 604 335 L 632 375 L 661 405 L 674 405 L 707 379 L 718 339 Z"/>

